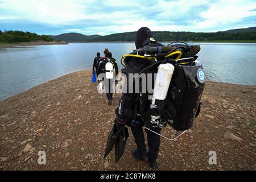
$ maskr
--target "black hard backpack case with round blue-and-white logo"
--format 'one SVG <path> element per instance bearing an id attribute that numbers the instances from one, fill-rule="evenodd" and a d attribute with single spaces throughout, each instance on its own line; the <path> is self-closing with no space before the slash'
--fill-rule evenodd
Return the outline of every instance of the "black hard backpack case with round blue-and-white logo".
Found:
<path id="1" fill-rule="evenodd" d="M 199 61 L 175 64 L 167 99 L 176 109 L 175 118 L 167 123 L 175 130 L 188 130 L 200 109 L 200 100 L 205 86 L 205 72 Z"/>

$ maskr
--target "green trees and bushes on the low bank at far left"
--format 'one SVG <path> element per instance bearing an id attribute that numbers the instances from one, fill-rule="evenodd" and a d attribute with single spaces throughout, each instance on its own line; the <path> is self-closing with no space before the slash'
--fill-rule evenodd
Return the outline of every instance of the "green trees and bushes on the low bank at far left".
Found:
<path id="1" fill-rule="evenodd" d="M 52 38 L 49 38 L 46 35 L 38 35 L 31 32 L 22 32 L 22 31 L 4 31 L 0 30 L 0 43 L 19 43 L 19 42 L 36 42 L 36 41 L 45 41 L 51 42 L 54 41 Z"/>

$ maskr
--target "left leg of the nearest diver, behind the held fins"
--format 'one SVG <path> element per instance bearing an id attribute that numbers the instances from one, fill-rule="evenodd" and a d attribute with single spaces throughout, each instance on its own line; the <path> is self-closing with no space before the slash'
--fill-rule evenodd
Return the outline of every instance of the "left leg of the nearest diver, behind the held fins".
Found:
<path id="1" fill-rule="evenodd" d="M 146 144 L 142 127 L 131 126 L 131 132 L 133 133 L 134 142 L 137 144 L 139 154 L 141 156 L 147 156 Z"/>

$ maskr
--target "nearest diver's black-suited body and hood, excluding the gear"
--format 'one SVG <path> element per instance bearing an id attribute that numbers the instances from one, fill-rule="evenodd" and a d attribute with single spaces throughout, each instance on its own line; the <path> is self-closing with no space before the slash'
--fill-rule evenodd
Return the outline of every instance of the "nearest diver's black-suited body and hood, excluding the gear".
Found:
<path id="1" fill-rule="evenodd" d="M 154 38 L 152 38 L 152 32 L 149 28 L 142 27 L 137 31 L 137 34 L 135 36 L 135 46 L 136 46 L 136 49 L 139 49 L 144 46 L 157 47 L 157 46 L 163 46 L 163 45 L 160 43 L 157 43 L 154 40 Z M 149 63 L 137 57 L 129 57 L 127 59 L 129 60 L 125 60 L 127 63 L 125 70 L 126 70 L 126 77 L 127 77 L 127 84 L 128 84 L 129 83 L 128 74 L 139 73 L 140 71 L 142 71 L 142 69 L 146 68 Z M 115 118 L 115 121 L 119 125 L 123 125 L 125 123 L 127 125 L 127 123 L 131 122 L 131 120 L 133 119 L 134 106 L 135 106 L 136 99 L 137 99 L 136 93 L 122 94 L 122 98 L 116 110 L 117 117 Z M 161 131 L 160 127 L 155 127 L 152 130 L 159 134 Z M 144 142 L 144 134 L 143 134 L 142 126 L 131 125 L 131 131 L 133 132 L 135 143 L 137 144 L 137 148 L 134 148 L 132 150 L 132 155 L 134 156 L 134 158 L 139 160 L 148 160 L 148 163 L 150 164 L 151 168 L 153 169 L 158 168 L 158 164 L 156 163 L 156 158 L 158 157 L 158 151 L 160 147 L 160 136 L 152 133 L 151 131 L 146 130 L 148 147 L 149 147 L 149 150 L 148 149 L 146 150 L 146 144 Z"/>

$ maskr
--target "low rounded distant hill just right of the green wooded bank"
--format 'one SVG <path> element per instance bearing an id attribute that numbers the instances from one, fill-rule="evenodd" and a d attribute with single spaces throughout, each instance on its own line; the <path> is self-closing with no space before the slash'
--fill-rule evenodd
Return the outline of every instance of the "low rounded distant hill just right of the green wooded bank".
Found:
<path id="1" fill-rule="evenodd" d="M 88 42 L 92 39 L 98 38 L 100 35 L 83 35 L 78 33 L 68 33 L 60 35 L 48 35 L 54 40 L 61 40 L 65 42 Z"/>

